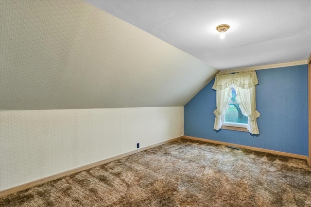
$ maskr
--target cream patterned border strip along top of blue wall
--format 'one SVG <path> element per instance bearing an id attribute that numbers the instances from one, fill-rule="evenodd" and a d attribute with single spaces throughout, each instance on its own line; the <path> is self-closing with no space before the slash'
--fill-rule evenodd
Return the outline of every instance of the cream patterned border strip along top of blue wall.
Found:
<path id="1" fill-rule="evenodd" d="M 311 57 L 309 57 L 309 60 L 310 58 Z M 288 66 L 301 65 L 301 64 L 308 64 L 308 60 L 292 61 L 292 62 L 277 63 L 277 64 L 265 64 L 265 65 L 252 66 L 252 67 L 242 67 L 242 68 L 237 68 L 237 69 L 232 69 L 232 70 L 222 70 L 218 74 L 224 74 L 228 72 L 235 73 L 235 72 L 243 72 L 243 71 L 250 71 L 250 70 L 263 70 L 263 69 L 271 69 L 271 68 L 278 68 L 278 67 L 288 67 Z"/>

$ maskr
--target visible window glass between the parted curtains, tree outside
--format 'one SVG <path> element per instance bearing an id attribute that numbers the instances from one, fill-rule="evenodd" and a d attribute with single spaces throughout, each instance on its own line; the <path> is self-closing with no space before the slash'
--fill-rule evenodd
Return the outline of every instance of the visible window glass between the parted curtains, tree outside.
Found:
<path id="1" fill-rule="evenodd" d="M 233 84 L 230 86 L 230 89 L 232 97 L 229 102 L 229 108 L 225 111 L 225 114 L 222 114 L 223 126 L 247 128 L 248 116 L 243 115 L 240 109 L 240 103 L 236 99 L 237 92 Z"/>

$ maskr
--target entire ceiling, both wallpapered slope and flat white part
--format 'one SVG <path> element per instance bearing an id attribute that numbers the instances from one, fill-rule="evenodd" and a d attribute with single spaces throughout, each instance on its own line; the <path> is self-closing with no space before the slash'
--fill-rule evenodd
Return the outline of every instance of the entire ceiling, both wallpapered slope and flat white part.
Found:
<path id="1" fill-rule="evenodd" d="M 311 52 L 311 0 L 0 0 L 0 8 L 0 110 L 184 106 L 219 70 Z"/>

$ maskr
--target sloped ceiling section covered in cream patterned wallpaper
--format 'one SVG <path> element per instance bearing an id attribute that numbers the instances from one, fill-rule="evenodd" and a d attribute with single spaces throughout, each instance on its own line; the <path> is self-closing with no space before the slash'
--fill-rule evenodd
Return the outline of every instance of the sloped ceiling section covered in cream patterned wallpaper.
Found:
<path id="1" fill-rule="evenodd" d="M 0 110 L 184 106 L 219 72 L 83 0 L 0 8 Z"/>

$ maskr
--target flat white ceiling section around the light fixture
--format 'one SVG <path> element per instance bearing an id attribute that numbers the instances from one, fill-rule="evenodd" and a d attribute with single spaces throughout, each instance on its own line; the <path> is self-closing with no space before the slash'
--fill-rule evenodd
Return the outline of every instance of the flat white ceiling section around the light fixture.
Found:
<path id="1" fill-rule="evenodd" d="M 220 69 L 308 59 L 311 0 L 86 0 Z M 225 39 L 216 26 L 229 24 Z"/>

